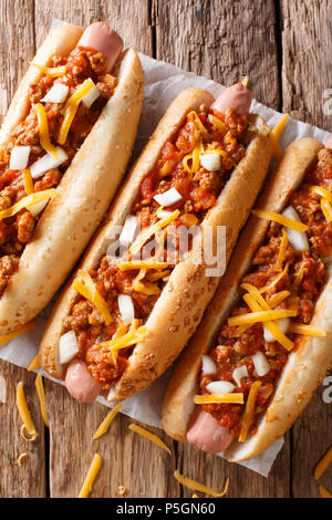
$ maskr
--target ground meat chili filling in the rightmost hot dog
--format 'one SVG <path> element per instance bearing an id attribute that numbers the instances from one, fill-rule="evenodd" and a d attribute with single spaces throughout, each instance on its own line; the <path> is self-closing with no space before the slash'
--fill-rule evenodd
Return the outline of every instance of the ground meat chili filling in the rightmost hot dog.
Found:
<path id="1" fill-rule="evenodd" d="M 332 225 L 326 221 L 321 210 L 321 196 L 310 190 L 312 186 L 332 188 L 332 150 L 322 149 L 319 152 L 318 158 L 317 166 L 305 176 L 302 186 L 291 195 L 289 200 L 289 205 L 295 209 L 301 221 L 309 226 L 307 236 L 310 249 L 299 253 L 288 242 L 282 263 L 278 264 L 282 229 L 279 223 L 271 222 L 263 245 L 255 254 L 251 272 L 241 280 L 241 283 L 250 283 L 260 290 L 264 288 L 261 295 L 267 302 L 273 294 L 289 291 L 290 294 L 280 303 L 279 308 L 295 309 L 297 316 L 292 321 L 301 324 L 309 324 L 311 321 L 315 302 L 326 282 L 323 259 L 331 256 L 332 252 Z M 283 274 L 279 281 L 274 284 L 271 283 L 281 272 Z M 248 312 L 250 312 L 249 308 L 242 302 L 232 310 L 231 315 L 236 316 Z M 201 373 L 200 389 L 201 394 L 209 394 L 206 386 L 212 381 L 229 381 L 235 384 L 234 370 L 246 365 L 248 377 L 241 378 L 241 386 L 236 386 L 235 392 L 243 393 L 246 402 L 251 385 L 256 381 L 261 382 L 250 429 L 252 434 L 257 427 L 255 417 L 267 409 L 281 371 L 288 361 L 289 351 L 277 341 L 264 341 L 261 323 L 249 326 L 242 334 L 237 334 L 237 326 L 228 324 L 221 327 L 218 344 L 209 353 L 216 363 L 217 373 L 212 375 Z M 294 351 L 302 336 L 294 333 L 288 333 L 287 336 L 293 341 L 292 351 Z M 270 371 L 262 377 L 257 375 L 251 357 L 257 352 L 262 352 L 270 365 Z M 245 405 L 204 404 L 203 406 L 218 420 L 220 426 L 230 428 L 234 437 L 239 436 Z"/>

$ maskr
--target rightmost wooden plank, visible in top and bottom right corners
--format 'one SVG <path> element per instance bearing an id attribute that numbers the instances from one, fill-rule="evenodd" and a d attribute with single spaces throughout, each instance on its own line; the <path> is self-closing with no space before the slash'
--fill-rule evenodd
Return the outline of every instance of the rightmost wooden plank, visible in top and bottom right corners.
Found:
<path id="1" fill-rule="evenodd" d="M 331 114 L 324 113 L 323 93 L 332 87 L 331 15 L 328 0 L 281 2 L 283 111 L 328 131 Z M 332 439 L 331 404 L 322 401 L 323 391 L 320 386 L 292 428 L 293 497 L 319 497 L 312 471 Z M 332 468 L 322 478 L 326 488 L 331 475 Z"/>

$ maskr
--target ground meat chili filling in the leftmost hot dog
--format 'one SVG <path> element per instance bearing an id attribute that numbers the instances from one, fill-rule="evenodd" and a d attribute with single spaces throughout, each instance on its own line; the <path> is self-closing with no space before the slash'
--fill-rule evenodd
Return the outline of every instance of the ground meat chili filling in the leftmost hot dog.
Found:
<path id="1" fill-rule="evenodd" d="M 11 150 L 14 146 L 30 146 L 28 168 L 40 157 L 45 155 L 40 145 L 39 124 L 35 104 L 40 103 L 55 83 L 63 83 L 70 87 L 69 95 L 86 79 L 91 79 L 100 90 L 100 97 L 86 108 L 80 104 L 62 148 L 68 154 L 68 160 L 59 168 L 52 168 L 43 176 L 33 180 L 33 191 L 55 188 L 66 168 L 71 164 L 77 149 L 91 132 L 102 108 L 113 95 L 116 79 L 106 74 L 106 58 L 93 50 L 75 49 L 68 58 L 53 55 L 49 65 L 58 67 L 65 65 L 65 74 L 53 77 L 41 73 L 29 87 L 30 110 L 27 117 L 11 132 L 10 139 L 0 153 L 0 210 L 8 209 L 27 196 L 22 170 L 9 169 Z M 60 125 L 63 121 L 63 103 L 43 103 L 51 142 L 56 145 Z M 19 259 L 24 246 L 31 240 L 33 230 L 41 217 L 41 212 L 33 216 L 28 209 L 21 209 L 14 216 L 0 220 L 0 297 L 3 293 L 10 277 L 19 267 Z"/>

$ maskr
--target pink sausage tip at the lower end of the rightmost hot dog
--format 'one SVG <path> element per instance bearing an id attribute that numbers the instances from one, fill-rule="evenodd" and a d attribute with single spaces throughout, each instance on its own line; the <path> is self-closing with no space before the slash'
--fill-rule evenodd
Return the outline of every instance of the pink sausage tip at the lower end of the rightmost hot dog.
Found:
<path id="1" fill-rule="evenodd" d="M 188 443 L 210 454 L 224 451 L 232 439 L 229 429 L 219 426 L 218 422 L 203 408 L 195 414 L 187 431 Z"/>

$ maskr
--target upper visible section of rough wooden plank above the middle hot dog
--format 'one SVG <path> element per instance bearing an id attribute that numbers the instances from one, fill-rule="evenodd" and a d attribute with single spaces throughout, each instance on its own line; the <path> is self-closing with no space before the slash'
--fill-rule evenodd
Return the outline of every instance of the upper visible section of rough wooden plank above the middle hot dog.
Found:
<path id="1" fill-rule="evenodd" d="M 250 77 L 253 96 L 278 108 L 272 2 L 154 0 L 156 58 L 224 85 Z"/>

